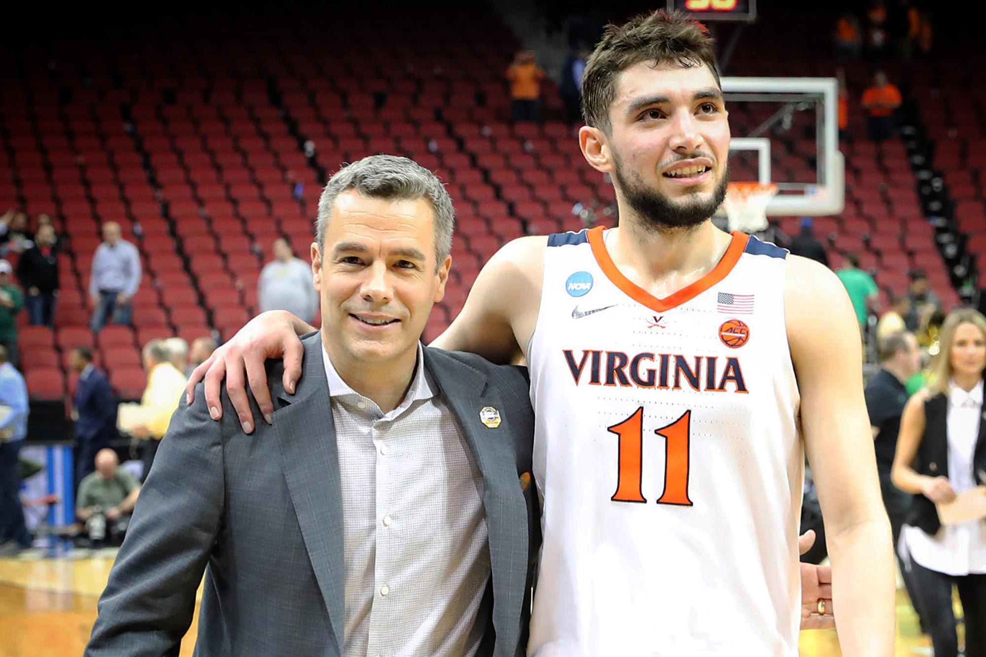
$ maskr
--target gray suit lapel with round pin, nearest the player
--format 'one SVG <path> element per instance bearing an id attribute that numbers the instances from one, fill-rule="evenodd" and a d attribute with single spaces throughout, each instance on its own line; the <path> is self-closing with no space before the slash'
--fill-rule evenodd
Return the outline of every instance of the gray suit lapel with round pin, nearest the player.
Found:
<path id="1" fill-rule="evenodd" d="M 487 386 L 486 376 L 438 349 L 425 347 L 425 367 L 442 389 L 483 477 L 483 509 L 493 571 L 493 626 L 497 654 L 513 655 L 520 640 L 521 605 L 527 583 L 528 511 L 518 481 L 510 428 L 510 408 Z M 487 427 L 480 410 L 500 413 L 500 425 Z"/>

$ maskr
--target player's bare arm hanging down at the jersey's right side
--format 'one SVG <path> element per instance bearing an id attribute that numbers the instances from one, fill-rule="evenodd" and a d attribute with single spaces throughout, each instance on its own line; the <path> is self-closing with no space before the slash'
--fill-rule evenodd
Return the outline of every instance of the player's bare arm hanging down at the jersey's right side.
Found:
<path id="1" fill-rule="evenodd" d="M 862 345 L 849 296 L 821 264 L 791 255 L 785 315 L 805 448 L 832 561 L 842 654 L 893 654 L 894 572 L 880 499 Z"/>

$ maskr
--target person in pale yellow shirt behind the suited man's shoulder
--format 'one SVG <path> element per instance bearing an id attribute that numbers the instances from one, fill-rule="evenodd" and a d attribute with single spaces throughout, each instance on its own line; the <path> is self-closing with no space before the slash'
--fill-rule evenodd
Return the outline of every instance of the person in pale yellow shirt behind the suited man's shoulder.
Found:
<path id="1" fill-rule="evenodd" d="M 141 460 L 144 462 L 144 478 L 151 472 L 154 456 L 162 437 L 168 431 L 172 413 L 178 407 L 181 394 L 188 380 L 184 373 L 171 363 L 171 354 L 164 340 L 151 340 L 142 352 L 144 369 L 147 370 L 147 388 L 140 405 L 147 413 L 147 424 L 134 427 L 131 434 L 141 441 Z"/>

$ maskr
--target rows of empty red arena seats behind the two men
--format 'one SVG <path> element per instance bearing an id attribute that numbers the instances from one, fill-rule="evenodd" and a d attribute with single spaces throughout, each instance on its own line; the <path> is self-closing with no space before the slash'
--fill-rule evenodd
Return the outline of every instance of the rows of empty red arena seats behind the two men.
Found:
<path id="1" fill-rule="evenodd" d="M 257 312 L 256 280 L 274 239 L 288 236 L 307 258 L 321 184 L 366 155 L 414 158 L 456 203 L 453 279 L 427 339 L 448 326 L 482 262 L 506 241 L 578 230 L 580 211 L 611 224 L 612 186 L 586 164 L 575 126 L 561 122 L 557 89 L 545 86 L 542 125 L 512 124 L 504 71 L 520 43 L 491 10 L 393 6 L 372 27 L 341 20 L 358 8 L 340 11 L 308 26 L 272 23 L 262 37 L 230 29 L 180 43 L 55 43 L 57 69 L 40 46 L 0 61 L 0 208 L 50 214 L 67 240 L 56 327 L 21 329 L 33 395 L 72 392 L 68 353 L 77 345 L 97 350 L 128 397 L 143 388 L 138 349 L 148 339 L 191 340 L 212 328 L 229 336 Z M 730 74 L 834 71 L 805 42 L 774 47 L 783 61 L 740 48 Z M 857 99 L 864 82 L 851 77 Z M 734 135 L 766 118 L 755 104 L 731 110 Z M 903 147 L 866 142 L 857 113 L 843 144 L 846 211 L 819 218 L 817 232 L 832 236 L 833 255 L 860 253 L 884 290 L 901 291 L 906 269 L 920 265 L 948 298 Z M 810 129 L 813 119 L 796 116 L 777 140 L 773 165 L 790 180 L 813 180 Z M 976 157 L 975 143 L 954 157 Z M 734 176 L 754 178 L 753 163 L 737 159 Z M 982 217 L 979 180 L 966 182 Z M 99 226 L 110 220 L 140 250 L 145 274 L 133 327 L 94 338 L 87 286 Z M 794 222 L 781 220 L 788 233 Z"/>

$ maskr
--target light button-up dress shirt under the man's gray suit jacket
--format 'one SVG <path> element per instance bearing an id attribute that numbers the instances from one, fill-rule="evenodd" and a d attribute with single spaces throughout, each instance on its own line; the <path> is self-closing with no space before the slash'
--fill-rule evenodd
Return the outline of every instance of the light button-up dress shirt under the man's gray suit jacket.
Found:
<path id="1" fill-rule="evenodd" d="M 385 413 L 322 347 L 342 480 L 345 657 L 474 655 L 489 623 L 483 482 L 424 368 Z"/>

